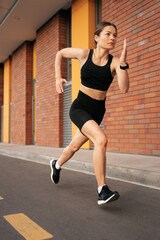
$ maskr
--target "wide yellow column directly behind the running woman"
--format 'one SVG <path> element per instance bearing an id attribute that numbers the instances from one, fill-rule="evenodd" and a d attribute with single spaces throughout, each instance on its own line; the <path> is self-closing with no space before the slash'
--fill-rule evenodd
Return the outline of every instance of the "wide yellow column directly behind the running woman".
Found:
<path id="1" fill-rule="evenodd" d="M 95 0 L 75 0 L 72 3 L 72 47 L 95 48 Z M 72 101 L 77 97 L 80 88 L 80 65 L 75 59 L 72 60 Z M 72 125 L 72 136 L 77 127 Z M 83 148 L 91 148 L 88 141 Z"/>

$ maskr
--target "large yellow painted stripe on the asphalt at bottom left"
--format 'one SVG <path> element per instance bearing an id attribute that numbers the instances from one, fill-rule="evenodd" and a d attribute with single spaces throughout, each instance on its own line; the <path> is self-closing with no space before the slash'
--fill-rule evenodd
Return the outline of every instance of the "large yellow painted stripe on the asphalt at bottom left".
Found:
<path id="1" fill-rule="evenodd" d="M 53 238 L 53 235 L 46 232 L 24 213 L 6 215 L 4 218 L 27 240 L 44 240 Z"/>

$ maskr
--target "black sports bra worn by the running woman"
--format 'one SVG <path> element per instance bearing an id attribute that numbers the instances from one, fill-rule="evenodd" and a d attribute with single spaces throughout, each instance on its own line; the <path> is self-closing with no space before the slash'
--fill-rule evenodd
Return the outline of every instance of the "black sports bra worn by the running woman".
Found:
<path id="1" fill-rule="evenodd" d="M 88 59 L 81 68 L 81 83 L 89 88 L 107 91 L 113 81 L 110 70 L 113 56 L 109 54 L 107 64 L 98 66 L 92 62 L 92 54 L 93 49 L 90 49 Z"/>

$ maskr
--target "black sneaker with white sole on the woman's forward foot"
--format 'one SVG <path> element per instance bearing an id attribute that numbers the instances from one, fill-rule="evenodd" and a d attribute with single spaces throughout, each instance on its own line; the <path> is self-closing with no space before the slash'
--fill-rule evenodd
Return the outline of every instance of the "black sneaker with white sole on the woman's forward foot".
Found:
<path id="1" fill-rule="evenodd" d="M 98 194 L 98 205 L 115 201 L 119 198 L 118 192 L 112 192 L 107 185 L 102 187 L 101 192 Z"/>

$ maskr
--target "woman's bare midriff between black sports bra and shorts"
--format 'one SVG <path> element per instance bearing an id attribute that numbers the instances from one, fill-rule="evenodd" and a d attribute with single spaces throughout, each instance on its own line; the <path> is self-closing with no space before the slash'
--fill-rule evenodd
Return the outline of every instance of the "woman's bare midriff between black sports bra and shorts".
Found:
<path id="1" fill-rule="evenodd" d="M 107 91 L 101 91 L 93 88 L 85 87 L 81 84 L 80 91 L 85 93 L 86 95 L 90 96 L 91 98 L 94 98 L 96 100 L 104 100 L 106 97 Z"/>

